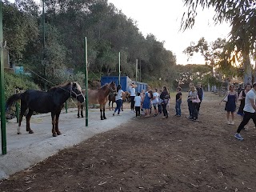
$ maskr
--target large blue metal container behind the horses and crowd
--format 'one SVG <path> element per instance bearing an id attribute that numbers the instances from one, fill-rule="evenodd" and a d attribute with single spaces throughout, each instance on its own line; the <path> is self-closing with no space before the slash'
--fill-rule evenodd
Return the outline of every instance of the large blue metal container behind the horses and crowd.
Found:
<path id="1" fill-rule="evenodd" d="M 115 82 L 116 85 L 118 85 L 118 76 L 103 76 L 101 78 L 101 86 L 104 86 L 106 83 Z M 120 77 L 120 84 L 122 86 L 123 91 L 130 91 L 129 90 L 129 84 L 132 81 L 128 76 L 121 76 Z M 141 92 L 142 90 L 146 90 L 147 83 L 145 82 L 134 82 L 137 87 L 135 88 L 136 92 Z"/>

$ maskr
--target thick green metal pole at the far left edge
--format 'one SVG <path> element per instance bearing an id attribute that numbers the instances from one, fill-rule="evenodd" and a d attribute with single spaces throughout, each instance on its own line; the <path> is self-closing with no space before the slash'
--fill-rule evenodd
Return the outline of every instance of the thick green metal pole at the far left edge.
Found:
<path id="1" fill-rule="evenodd" d="M 1 107 L 1 138 L 2 138 L 2 154 L 6 154 L 6 106 L 5 106 L 5 78 L 3 64 L 3 35 L 2 35 L 2 1 L 0 1 L 0 107 Z"/>

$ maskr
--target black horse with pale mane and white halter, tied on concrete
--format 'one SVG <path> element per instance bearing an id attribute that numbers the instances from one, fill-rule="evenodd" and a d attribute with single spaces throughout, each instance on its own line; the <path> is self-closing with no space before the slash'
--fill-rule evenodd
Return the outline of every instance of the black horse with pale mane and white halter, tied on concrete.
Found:
<path id="1" fill-rule="evenodd" d="M 64 102 L 70 97 L 78 99 L 79 102 L 84 102 L 85 98 L 82 94 L 81 86 L 77 82 L 67 82 L 61 86 L 54 86 L 47 92 L 41 90 L 26 90 L 24 93 L 14 94 L 8 98 L 6 102 L 6 109 L 13 106 L 19 99 L 21 100 L 21 112 L 19 115 L 17 134 L 21 134 L 20 127 L 22 118 L 27 109 L 26 115 L 26 131 L 33 134 L 34 131 L 30 129 L 30 118 L 35 112 L 51 113 L 52 119 L 52 133 L 53 137 L 61 134 L 58 130 L 58 118 L 64 106 Z"/>

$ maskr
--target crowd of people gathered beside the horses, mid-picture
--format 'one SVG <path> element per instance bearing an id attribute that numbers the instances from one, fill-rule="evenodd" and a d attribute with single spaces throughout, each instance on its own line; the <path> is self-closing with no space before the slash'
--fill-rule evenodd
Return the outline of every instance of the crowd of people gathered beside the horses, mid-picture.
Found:
<path id="1" fill-rule="evenodd" d="M 134 83 L 130 83 L 130 110 L 132 113 L 136 113 L 135 118 L 139 118 L 141 115 L 141 111 L 146 118 L 152 116 L 156 117 L 159 114 L 163 114 L 162 118 L 169 117 L 169 106 L 170 106 L 170 93 L 166 86 L 162 86 L 162 90 L 158 90 L 154 88 L 154 90 L 150 89 L 150 86 L 147 86 L 146 92 L 142 90 L 140 93 L 136 94 L 135 88 L 137 85 Z M 182 110 L 182 88 L 180 86 L 176 89 L 177 93 L 175 96 L 175 114 L 174 116 L 181 117 Z M 122 105 L 122 87 L 118 85 L 116 101 L 117 107 L 114 110 L 114 114 L 118 111 L 118 115 L 120 115 L 120 107 Z M 189 119 L 193 121 L 198 120 L 198 112 L 200 110 L 200 105 L 203 98 L 203 90 L 200 83 L 195 87 L 193 83 L 190 83 L 190 90 L 188 91 L 188 108 L 190 111 Z"/>

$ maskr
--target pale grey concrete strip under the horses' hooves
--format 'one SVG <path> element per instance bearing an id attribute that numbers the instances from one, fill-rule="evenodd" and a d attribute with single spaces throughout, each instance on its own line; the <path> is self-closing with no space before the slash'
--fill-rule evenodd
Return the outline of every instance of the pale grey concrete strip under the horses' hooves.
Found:
<path id="1" fill-rule="evenodd" d="M 86 127 L 85 118 L 77 118 L 76 109 L 70 109 L 67 114 L 63 111 L 59 120 L 62 135 L 56 138 L 52 137 L 50 114 L 34 115 L 31 118 L 30 127 L 34 134 L 26 133 L 26 118 L 22 121 L 22 134 L 17 134 L 16 118 L 6 122 L 7 154 L 0 155 L 0 179 L 26 170 L 59 150 L 118 127 L 135 116 L 130 110 L 122 111 L 122 116 L 112 114 L 113 111 L 106 110 L 107 119 L 102 121 L 99 109 L 90 109 L 89 126 Z"/>

